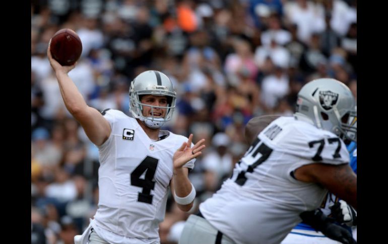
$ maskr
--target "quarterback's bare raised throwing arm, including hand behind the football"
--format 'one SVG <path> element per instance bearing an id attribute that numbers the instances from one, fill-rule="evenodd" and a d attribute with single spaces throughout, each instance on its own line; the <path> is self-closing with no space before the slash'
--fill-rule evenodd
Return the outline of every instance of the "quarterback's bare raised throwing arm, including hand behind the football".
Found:
<path id="1" fill-rule="evenodd" d="M 110 135 L 110 124 L 100 112 L 86 104 L 73 80 L 68 76 L 68 72 L 75 67 L 75 64 L 72 66 L 60 65 L 52 58 L 50 45 L 47 48 L 47 57 L 58 80 L 64 105 L 84 128 L 89 139 L 97 146 L 101 145 Z"/>

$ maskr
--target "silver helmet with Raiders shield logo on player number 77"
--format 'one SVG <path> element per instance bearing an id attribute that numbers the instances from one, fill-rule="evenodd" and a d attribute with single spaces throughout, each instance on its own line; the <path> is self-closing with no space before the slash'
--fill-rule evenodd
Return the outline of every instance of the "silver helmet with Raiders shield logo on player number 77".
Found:
<path id="1" fill-rule="evenodd" d="M 357 142 L 357 111 L 350 89 L 332 78 L 312 80 L 298 93 L 295 116 Z"/>

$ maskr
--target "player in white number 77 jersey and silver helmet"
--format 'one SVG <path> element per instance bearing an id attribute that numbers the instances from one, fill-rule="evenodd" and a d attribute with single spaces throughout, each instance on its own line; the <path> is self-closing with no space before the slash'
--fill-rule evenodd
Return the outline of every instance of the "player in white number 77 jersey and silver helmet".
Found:
<path id="1" fill-rule="evenodd" d="M 280 243 L 328 190 L 357 208 L 357 177 L 339 137 L 356 130 L 348 124 L 351 91 L 335 79 L 316 79 L 300 90 L 297 105 L 293 117 L 276 119 L 257 136 L 199 216 L 190 215 L 180 244 Z"/>

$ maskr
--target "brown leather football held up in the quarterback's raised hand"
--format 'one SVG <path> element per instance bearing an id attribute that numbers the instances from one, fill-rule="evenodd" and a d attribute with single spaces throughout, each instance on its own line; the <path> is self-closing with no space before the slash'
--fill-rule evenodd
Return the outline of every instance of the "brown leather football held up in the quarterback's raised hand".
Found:
<path id="1" fill-rule="evenodd" d="M 73 65 L 81 56 L 81 39 L 75 31 L 61 29 L 51 38 L 50 51 L 52 57 L 61 65 Z"/>

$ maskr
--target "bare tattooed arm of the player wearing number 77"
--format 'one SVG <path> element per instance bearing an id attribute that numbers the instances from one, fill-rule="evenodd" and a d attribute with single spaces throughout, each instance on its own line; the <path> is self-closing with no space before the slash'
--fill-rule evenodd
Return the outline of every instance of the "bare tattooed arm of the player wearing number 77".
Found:
<path id="1" fill-rule="evenodd" d="M 310 164 L 295 170 L 295 178 L 303 182 L 313 182 L 327 188 L 357 209 L 357 176 L 349 164 Z"/>

